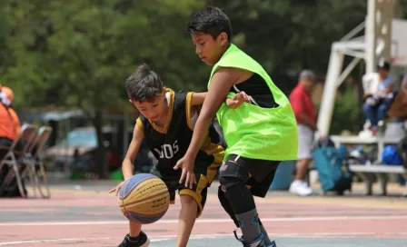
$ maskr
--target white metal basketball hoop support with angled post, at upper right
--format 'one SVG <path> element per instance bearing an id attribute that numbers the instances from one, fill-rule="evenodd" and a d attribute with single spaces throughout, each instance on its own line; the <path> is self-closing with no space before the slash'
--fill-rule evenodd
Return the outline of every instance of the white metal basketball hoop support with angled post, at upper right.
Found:
<path id="1" fill-rule="evenodd" d="M 393 0 L 368 0 L 364 23 L 355 27 L 341 41 L 333 43 L 318 115 L 319 135 L 329 133 L 336 91 L 359 61 L 363 59 L 366 63 L 366 73 L 372 73 L 375 72 L 376 64 L 380 59 L 390 60 L 392 9 Z M 364 36 L 356 36 L 362 31 L 363 26 Z M 354 59 L 342 72 L 345 54 Z"/>

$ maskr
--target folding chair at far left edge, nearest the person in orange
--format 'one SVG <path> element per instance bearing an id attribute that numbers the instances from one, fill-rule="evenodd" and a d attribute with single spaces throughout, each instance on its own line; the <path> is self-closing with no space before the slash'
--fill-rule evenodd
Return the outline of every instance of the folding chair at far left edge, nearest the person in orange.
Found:
<path id="1" fill-rule="evenodd" d="M 2 194 L 5 190 L 13 190 L 15 186 L 10 186 L 13 183 L 15 178 L 18 186 L 18 190 L 20 195 L 26 198 L 24 186 L 23 186 L 23 179 L 22 173 L 20 173 L 20 167 L 18 165 L 18 152 L 15 150 L 17 144 L 21 141 L 24 143 L 23 151 L 21 155 L 27 152 L 30 144 L 33 142 L 35 138 L 35 134 L 37 131 L 37 127 L 31 124 L 25 124 L 21 128 L 21 132 L 17 135 L 12 145 L 8 148 L 7 153 L 5 153 L 5 157 L 0 162 L 0 171 L 2 171 L 3 166 L 7 165 L 9 168 L 8 173 L 5 175 L 5 180 L 0 184 L 0 194 Z"/>

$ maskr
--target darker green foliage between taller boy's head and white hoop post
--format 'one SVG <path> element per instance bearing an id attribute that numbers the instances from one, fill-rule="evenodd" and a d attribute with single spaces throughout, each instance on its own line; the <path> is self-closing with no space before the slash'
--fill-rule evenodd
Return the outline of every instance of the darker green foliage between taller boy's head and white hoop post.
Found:
<path id="1" fill-rule="evenodd" d="M 325 74 L 331 45 L 364 20 L 366 1 L 213 0 L 230 16 L 234 41 L 286 94 L 304 68 Z"/>

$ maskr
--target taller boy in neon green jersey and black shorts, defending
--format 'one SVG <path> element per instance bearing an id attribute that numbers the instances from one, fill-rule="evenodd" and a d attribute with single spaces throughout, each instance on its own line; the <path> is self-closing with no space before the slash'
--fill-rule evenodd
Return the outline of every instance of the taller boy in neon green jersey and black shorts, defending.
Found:
<path id="1" fill-rule="evenodd" d="M 186 30 L 196 54 L 213 70 L 191 144 L 174 169 L 183 170 L 180 183 L 190 187 L 195 183 L 194 159 L 216 114 L 227 144 L 219 171 L 219 200 L 241 228 L 243 237 L 238 240 L 243 246 L 275 247 L 258 217 L 253 195 L 264 197 L 278 164 L 297 158 L 293 109 L 263 67 L 231 44 L 232 26 L 220 9 L 208 7 L 197 13 Z M 225 96 L 239 92 L 249 95 L 250 104 L 237 109 L 223 104 Z"/>

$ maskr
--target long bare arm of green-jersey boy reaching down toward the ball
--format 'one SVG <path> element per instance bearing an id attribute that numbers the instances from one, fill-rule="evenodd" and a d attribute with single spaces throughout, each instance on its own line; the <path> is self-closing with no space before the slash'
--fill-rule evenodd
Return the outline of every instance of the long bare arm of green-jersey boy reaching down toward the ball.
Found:
<path id="1" fill-rule="evenodd" d="M 240 71 L 231 68 L 221 68 L 213 74 L 208 94 L 204 99 L 204 105 L 194 126 L 191 144 L 184 157 L 174 166 L 175 170 L 183 169 L 180 183 L 183 183 L 185 180 L 185 186 L 187 187 L 192 188 L 193 183 L 196 182 L 194 177 L 194 161 L 196 154 L 204 143 L 204 137 L 208 132 L 212 118 L 223 103 L 233 84 L 238 81 L 239 76 Z"/>

